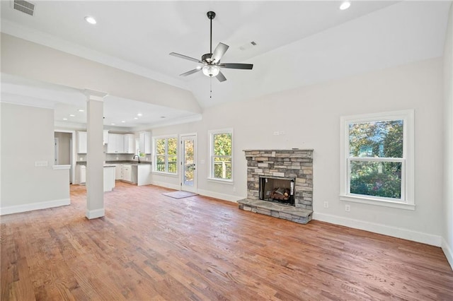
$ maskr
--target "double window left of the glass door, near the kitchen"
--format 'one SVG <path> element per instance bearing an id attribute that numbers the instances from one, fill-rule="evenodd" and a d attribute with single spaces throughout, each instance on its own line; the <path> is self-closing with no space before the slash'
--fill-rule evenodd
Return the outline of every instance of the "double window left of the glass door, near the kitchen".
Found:
<path id="1" fill-rule="evenodd" d="M 176 174 L 178 172 L 178 138 L 156 137 L 154 143 L 154 171 Z"/>

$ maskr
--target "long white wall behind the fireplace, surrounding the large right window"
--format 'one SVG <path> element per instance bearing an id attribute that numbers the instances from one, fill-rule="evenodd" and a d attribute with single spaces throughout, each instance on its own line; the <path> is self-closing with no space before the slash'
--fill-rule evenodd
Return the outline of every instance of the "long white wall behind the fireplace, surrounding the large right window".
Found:
<path id="1" fill-rule="evenodd" d="M 351 203 L 346 213 L 338 198 L 340 116 L 406 109 L 415 110 L 415 211 Z M 442 59 L 437 58 L 211 107 L 200 122 L 153 129 L 153 135 L 196 132 L 199 192 L 233 201 L 246 197 L 243 150 L 314 148 L 314 218 L 440 246 L 441 117 Z M 223 128 L 234 129 L 231 185 L 206 179 L 207 131 Z M 274 136 L 275 131 L 285 134 Z M 179 183 L 177 177 L 153 175 L 153 180 L 168 187 Z M 323 208 L 323 201 L 329 208 Z"/>

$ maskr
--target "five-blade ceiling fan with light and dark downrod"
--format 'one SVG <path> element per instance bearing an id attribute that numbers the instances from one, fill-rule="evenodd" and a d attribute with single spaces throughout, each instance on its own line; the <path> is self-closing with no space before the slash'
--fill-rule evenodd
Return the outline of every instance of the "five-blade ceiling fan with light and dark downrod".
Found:
<path id="1" fill-rule="evenodd" d="M 220 63 L 220 59 L 222 59 L 229 46 L 225 45 L 224 43 L 219 43 L 219 45 L 215 47 L 214 52 L 212 52 L 212 19 L 215 18 L 214 11 L 208 11 L 207 18 L 211 20 L 210 53 L 203 54 L 201 59 L 195 59 L 193 57 L 188 57 L 186 55 L 178 54 L 176 52 L 171 52 L 170 54 L 173 55 L 173 57 L 180 57 L 181 59 L 196 61 L 197 63 L 203 64 L 205 66 L 203 67 L 198 66 L 196 69 L 180 74 L 180 76 L 188 76 L 190 74 L 197 73 L 198 71 L 202 71 L 205 74 L 205 76 L 210 77 L 214 76 L 220 82 L 222 82 L 226 81 L 226 78 L 220 71 L 221 68 L 251 70 L 253 68 L 253 64 Z"/>

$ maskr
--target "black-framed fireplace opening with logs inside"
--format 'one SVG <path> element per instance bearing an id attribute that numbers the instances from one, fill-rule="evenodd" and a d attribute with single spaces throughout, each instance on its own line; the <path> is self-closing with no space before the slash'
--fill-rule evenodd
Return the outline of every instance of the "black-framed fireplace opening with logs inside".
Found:
<path id="1" fill-rule="evenodd" d="M 260 177 L 260 200 L 295 206 L 295 178 Z"/>

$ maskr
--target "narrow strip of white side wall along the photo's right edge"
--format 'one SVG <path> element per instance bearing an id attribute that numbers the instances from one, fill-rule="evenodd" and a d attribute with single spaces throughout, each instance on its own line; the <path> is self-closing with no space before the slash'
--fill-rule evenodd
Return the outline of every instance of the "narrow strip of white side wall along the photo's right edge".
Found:
<path id="1" fill-rule="evenodd" d="M 444 232 L 442 249 L 453 268 L 453 6 L 444 51 Z"/>

